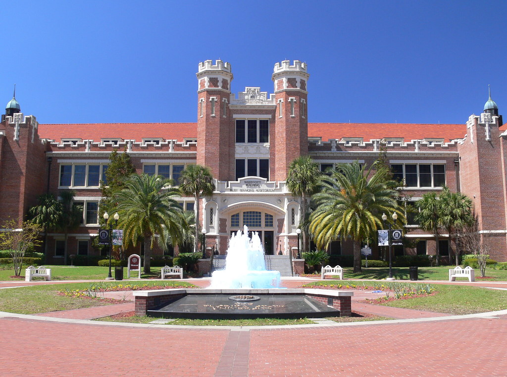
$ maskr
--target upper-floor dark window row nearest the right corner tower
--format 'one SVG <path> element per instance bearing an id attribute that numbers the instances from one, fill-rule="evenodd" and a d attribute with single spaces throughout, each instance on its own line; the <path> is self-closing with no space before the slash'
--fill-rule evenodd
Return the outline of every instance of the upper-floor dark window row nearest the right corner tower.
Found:
<path id="1" fill-rule="evenodd" d="M 392 164 L 393 178 L 406 187 L 441 187 L 445 184 L 445 164 Z"/>

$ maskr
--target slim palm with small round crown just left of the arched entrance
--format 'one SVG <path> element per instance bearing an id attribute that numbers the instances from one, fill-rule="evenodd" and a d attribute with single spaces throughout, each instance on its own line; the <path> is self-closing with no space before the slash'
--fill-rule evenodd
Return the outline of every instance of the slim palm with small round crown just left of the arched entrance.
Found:
<path id="1" fill-rule="evenodd" d="M 199 239 L 199 202 L 201 196 L 211 196 L 215 190 L 213 176 L 206 166 L 188 165 L 179 177 L 179 190 L 184 195 L 192 195 L 195 200 L 195 242 L 194 253 L 198 251 L 197 243 Z M 204 216 L 203 216 L 204 218 Z M 204 220 L 203 220 L 204 228 Z"/>

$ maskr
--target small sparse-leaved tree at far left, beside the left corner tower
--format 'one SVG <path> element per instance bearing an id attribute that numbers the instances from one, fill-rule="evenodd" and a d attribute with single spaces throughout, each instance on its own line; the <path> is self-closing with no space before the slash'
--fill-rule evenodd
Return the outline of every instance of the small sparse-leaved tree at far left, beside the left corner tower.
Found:
<path id="1" fill-rule="evenodd" d="M 2 228 L 6 230 L 0 233 L 0 246 L 10 250 L 14 275 L 20 276 L 26 250 L 41 244 L 39 235 L 43 227 L 32 221 L 25 221 L 21 229 L 17 229 L 17 222 L 9 220 Z"/>

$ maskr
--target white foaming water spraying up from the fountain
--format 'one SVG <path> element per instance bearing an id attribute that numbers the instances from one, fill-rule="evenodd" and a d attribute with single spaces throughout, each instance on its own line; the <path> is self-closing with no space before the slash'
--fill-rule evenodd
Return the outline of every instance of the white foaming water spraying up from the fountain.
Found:
<path id="1" fill-rule="evenodd" d="M 257 232 L 248 237 L 248 228 L 238 230 L 229 241 L 225 270 L 211 275 L 211 289 L 278 288 L 280 272 L 267 271 L 264 247 Z"/>

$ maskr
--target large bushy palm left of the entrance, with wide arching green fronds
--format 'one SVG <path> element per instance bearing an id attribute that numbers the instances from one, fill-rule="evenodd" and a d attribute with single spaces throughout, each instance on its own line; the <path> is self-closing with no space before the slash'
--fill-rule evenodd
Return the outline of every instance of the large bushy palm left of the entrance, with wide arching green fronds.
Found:
<path id="1" fill-rule="evenodd" d="M 164 244 L 166 237 L 181 238 L 182 208 L 174 199 L 179 191 L 167 188 L 168 180 L 160 176 L 131 175 L 125 188 L 115 194 L 124 231 L 125 246 L 137 244 L 144 237 L 144 273 L 149 274 L 155 235 Z"/>

